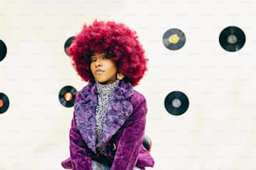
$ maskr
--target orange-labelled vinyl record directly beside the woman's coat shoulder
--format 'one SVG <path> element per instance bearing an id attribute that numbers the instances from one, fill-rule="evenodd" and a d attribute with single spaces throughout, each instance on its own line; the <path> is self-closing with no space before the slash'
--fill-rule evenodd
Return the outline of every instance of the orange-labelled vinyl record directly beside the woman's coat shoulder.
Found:
<path id="1" fill-rule="evenodd" d="M 72 86 L 65 86 L 59 91 L 59 102 L 64 107 L 73 107 L 75 101 L 76 89 Z"/>

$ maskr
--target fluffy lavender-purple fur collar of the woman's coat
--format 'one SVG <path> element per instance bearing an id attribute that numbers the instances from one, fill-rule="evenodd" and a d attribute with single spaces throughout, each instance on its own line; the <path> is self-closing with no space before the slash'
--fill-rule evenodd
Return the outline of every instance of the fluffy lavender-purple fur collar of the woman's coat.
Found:
<path id="1" fill-rule="evenodd" d="M 130 83 L 120 81 L 119 86 L 115 88 L 112 97 L 110 97 L 100 143 L 96 143 L 95 112 L 98 101 L 97 87 L 95 83 L 91 83 L 81 90 L 81 99 L 74 105 L 75 121 L 84 142 L 94 153 L 96 153 L 96 147 L 105 148 L 110 138 L 120 129 L 125 120 L 130 117 L 133 112 L 133 106 L 130 102 L 133 92 L 134 90 Z"/>

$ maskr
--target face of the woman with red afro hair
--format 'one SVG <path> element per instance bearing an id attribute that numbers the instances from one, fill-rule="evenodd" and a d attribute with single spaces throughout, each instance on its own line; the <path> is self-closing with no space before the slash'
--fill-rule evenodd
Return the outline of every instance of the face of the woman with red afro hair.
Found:
<path id="1" fill-rule="evenodd" d="M 115 62 L 107 57 L 106 53 L 95 52 L 90 59 L 90 71 L 97 82 L 104 84 L 115 82 L 117 67 Z"/>

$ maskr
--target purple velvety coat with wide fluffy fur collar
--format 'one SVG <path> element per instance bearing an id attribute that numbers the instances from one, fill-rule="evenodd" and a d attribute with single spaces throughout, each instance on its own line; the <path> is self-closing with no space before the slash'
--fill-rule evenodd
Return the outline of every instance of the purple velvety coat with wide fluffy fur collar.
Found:
<path id="1" fill-rule="evenodd" d="M 97 87 L 90 83 L 77 92 L 74 118 L 69 133 L 70 158 L 64 168 L 92 170 L 92 159 L 108 164 L 111 170 L 153 167 L 154 160 L 142 145 L 146 126 L 146 99 L 130 83 L 120 81 L 105 116 L 103 135 L 96 143 L 95 109 Z M 105 148 L 105 156 L 96 147 Z"/>

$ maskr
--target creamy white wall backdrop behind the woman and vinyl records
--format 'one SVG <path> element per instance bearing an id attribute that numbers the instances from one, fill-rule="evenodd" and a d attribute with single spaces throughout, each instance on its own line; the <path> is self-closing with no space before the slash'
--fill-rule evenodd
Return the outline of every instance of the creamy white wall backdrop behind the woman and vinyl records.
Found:
<path id="1" fill-rule="evenodd" d="M 1 0 L 0 170 L 61 170 L 69 156 L 73 108 L 59 103 L 59 90 L 85 85 L 64 53 L 64 42 L 84 23 L 123 22 L 135 29 L 150 59 L 140 85 L 148 103 L 146 133 L 155 170 L 256 169 L 256 2 L 153 0 Z M 219 33 L 237 26 L 244 47 L 226 52 Z M 161 38 L 181 29 L 187 42 L 170 51 Z M 182 116 L 166 112 L 169 92 L 187 94 Z"/>

